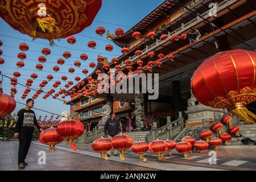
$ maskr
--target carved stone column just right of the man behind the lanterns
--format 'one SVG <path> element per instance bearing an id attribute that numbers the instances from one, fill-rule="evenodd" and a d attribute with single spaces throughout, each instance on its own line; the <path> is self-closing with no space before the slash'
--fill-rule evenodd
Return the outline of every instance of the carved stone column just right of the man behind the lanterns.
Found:
<path id="1" fill-rule="evenodd" d="M 141 130 L 141 122 L 144 122 L 144 95 L 135 93 L 135 110 L 136 130 Z"/>

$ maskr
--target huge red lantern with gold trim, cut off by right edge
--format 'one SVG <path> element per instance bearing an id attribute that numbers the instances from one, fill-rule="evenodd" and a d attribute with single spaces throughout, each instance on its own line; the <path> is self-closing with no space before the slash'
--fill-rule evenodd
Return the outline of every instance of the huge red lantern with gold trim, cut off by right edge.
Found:
<path id="1" fill-rule="evenodd" d="M 191 90 L 201 104 L 228 108 L 255 123 L 256 116 L 246 105 L 256 100 L 256 52 L 234 49 L 205 60 L 193 73 Z"/>

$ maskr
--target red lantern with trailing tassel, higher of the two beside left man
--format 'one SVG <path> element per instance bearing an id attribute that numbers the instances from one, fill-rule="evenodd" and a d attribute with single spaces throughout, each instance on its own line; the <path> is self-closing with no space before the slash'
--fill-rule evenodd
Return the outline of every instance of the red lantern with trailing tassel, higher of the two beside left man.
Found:
<path id="1" fill-rule="evenodd" d="M 57 133 L 61 138 L 68 139 L 70 147 L 74 151 L 77 151 L 77 147 L 73 142 L 73 139 L 77 139 L 84 133 L 84 125 L 77 120 L 63 121 L 57 126 Z"/>

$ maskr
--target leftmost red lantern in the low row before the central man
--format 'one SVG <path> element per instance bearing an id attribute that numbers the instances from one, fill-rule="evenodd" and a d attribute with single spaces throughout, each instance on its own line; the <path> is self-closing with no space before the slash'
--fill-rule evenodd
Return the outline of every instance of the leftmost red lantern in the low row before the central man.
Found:
<path id="1" fill-rule="evenodd" d="M 94 151 L 101 153 L 101 158 L 108 160 L 109 158 L 105 152 L 111 150 L 112 143 L 110 139 L 101 137 L 93 141 L 92 148 Z"/>

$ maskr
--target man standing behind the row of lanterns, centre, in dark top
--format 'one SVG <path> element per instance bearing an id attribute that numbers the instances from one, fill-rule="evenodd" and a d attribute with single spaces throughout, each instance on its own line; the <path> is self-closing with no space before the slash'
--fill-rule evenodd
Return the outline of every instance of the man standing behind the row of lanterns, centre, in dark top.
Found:
<path id="1" fill-rule="evenodd" d="M 110 113 L 110 118 L 105 122 L 104 133 L 105 138 L 109 138 L 110 140 L 112 140 L 115 135 L 121 133 L 120 123 L 115 118 L 115 113 L 113 111 Z M 117 150 L 114 150 L 114 155 L 118 155 Z M 108 151 L 108 156 L 111 156 L 111 150 Z"/>

